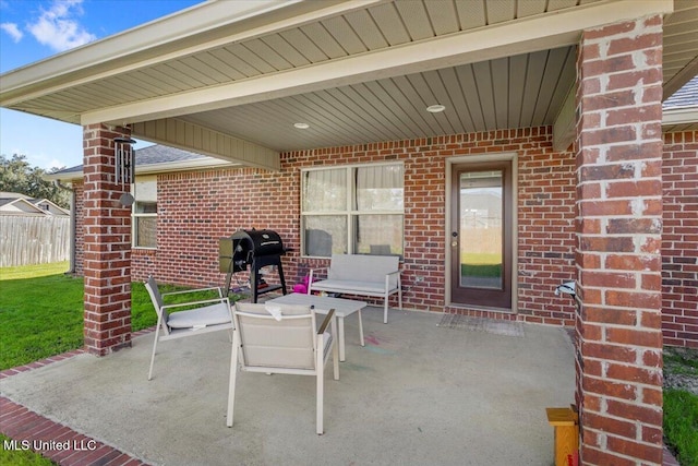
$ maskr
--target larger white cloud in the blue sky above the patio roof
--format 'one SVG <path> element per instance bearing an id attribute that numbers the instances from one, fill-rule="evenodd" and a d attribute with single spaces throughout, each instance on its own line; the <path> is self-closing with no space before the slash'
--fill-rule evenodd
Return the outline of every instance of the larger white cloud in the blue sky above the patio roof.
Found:
<path id="1" fill-rule="evenodd" d="M 63 51 L 97 38 L 87 32 L 75 16 L 83 14 L 83 0 L 55 0 L 49 10 L 27 25 L 27 29 L 40 44 Z"/>

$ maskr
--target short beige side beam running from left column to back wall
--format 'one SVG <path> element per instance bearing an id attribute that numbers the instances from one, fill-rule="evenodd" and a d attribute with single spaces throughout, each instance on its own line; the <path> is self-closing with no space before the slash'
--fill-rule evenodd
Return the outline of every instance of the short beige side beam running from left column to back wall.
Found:
<path id="1" fill-rule="evenodd" d="M 131 135 L 246 167 L 273 171 L 281 168 L 280 155 L 276 151 L 174 118 L 134 123 Z"/>

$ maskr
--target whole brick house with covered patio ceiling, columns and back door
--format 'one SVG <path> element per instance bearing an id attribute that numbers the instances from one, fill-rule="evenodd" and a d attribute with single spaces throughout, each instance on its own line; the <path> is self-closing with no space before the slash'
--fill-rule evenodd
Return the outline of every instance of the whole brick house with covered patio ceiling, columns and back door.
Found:
<path id="1" fill-rule="evenodd" d="M 574 327 L 582 463 L 658 465 L 662 344 L 698 339 L 698 118 L 662 110 L 698 74 L 697 12 L 206 2 L 5 73 L 0 104 L 84 127 L 88 351 L 130 345 L 129 278 L 220 285 L 239 228 L 277 231 L 290 279 L 387 250 L 408 309 Z M 124 136 L 239 165 L 136 179 L 133 212 Z"/>

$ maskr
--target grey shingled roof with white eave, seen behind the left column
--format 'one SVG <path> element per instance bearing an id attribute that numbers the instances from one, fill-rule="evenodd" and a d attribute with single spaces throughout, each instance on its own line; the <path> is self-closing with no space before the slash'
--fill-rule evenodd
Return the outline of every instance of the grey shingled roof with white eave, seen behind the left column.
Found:
<path id="1" fill-rule="evenodd" d="M 135 150 L 136 175 L 196 170 L 215 167 L 234 167 L 238 164 L 208 157 L 194 152 L 155 144 Z M 74 181 L 83 178 L 83 166 L 64 168 L 44 176 L 47 180 Z"/>

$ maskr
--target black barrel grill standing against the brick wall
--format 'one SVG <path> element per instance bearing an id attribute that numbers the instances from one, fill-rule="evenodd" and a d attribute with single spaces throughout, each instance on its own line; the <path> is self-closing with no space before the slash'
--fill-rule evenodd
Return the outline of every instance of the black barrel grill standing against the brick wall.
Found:
<path id="1" fill-rule="evenodd" d="M 286 295 L 286 280 L 281 267 L 281 255 L 286 253 L 281 237 L 273 230 L 238 230 L 219 242 L 219 270 L 227 273 L 226 290 L 230 291 L 232 275 L 250 267 L 250 287 L 252 302 L 257 296 L 281 288 Z M 260 276 L 260 268 L 276 265 L 279 275 L 278 285 L 266 284 Z"/>

